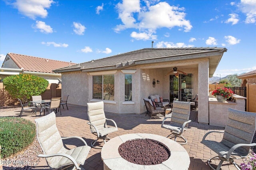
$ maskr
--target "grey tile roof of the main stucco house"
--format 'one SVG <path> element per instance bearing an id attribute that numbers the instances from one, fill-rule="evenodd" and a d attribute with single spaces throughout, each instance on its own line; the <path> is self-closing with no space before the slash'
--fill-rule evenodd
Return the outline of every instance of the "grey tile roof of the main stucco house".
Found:
<path id="1" fill-rule="evenodd" d="M 226 52 L 226 48 L 218 47 L 192 47 L 192 48 L 145 48 L 128 53 L 122 53 L 106 57 L 103 59 L 92 60 L 85 63 L 76 64 L 74 66 L 60 68 L 54 70 L 54 72 L 70 72 L 77 70 L 92 70 L 109 67 L 109 69 L 120 69 L 124 66 L 133 66 L 139 64 L 142 61 L 152 61 L 155 63 L 156 59 L 167 59 L 172 57 L 182 57 L 187 55 L 196 55 L 212 52 Z"/>

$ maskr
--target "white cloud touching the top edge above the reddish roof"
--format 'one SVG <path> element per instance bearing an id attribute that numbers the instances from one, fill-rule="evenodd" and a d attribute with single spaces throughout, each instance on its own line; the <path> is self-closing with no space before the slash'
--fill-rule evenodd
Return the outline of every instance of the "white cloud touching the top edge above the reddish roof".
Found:
<path id="1" fill-rule="evenodd" d="M 35 20 L 36 17 L 46 18 L 46 8 L 50 8 L 52 3 L 53 0 L 16 0 L 12 5 L 24 16 Z"/>

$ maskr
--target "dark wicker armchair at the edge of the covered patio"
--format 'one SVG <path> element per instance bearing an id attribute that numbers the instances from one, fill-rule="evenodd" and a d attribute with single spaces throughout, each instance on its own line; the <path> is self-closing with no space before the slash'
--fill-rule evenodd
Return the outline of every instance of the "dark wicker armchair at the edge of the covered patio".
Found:
<path id="1" fill-rule="evenodd" d="M 163 115 L 165 117 L 165 106 L 156 107 L 153 105 L 152 101 L 150 99 L 144 98 L 144 103 L 146 106 L 146 115 L 148 114 L 151 117 L 158 117 L 159 114 Z M 145 116 L 146 116 L 145 115 Z"/>

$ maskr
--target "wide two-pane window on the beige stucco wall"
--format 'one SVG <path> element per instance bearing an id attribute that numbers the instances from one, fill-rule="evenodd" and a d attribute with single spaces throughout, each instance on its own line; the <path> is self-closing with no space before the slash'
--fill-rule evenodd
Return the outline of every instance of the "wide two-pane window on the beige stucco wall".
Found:
<path id="1" fill-rule="evenodd" d="M 114 100 L 114 74 L 92 76 L 94 99 Z"/>

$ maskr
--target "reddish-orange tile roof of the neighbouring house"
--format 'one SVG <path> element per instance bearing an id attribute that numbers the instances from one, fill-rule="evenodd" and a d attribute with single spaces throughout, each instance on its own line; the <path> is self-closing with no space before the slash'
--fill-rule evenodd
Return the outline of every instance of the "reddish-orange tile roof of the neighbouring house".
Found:
<path id="1" fill-rule="evenodd" d="M 9 56 L 19 68 L 24 68 L 24 71 L 54 73 L 52 70 L 67 67 L 69 64 L 71 66 L 76 64 L 14 53 L 8 53 L 6 57 L 7 56 Z"/>

